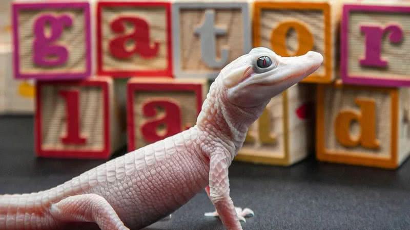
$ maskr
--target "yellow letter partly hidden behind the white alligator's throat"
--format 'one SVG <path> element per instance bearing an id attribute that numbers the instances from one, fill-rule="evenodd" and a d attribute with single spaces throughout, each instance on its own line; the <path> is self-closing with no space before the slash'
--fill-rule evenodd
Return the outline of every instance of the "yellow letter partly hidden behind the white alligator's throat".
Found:
<path id="1" fill-rule="evenodd" d="M 271 134 L 271 115 L 268 109 L 264 109 L 258 119 L 258 135 L 261 144 L 274 144 L 276 142 L 276 137 Z M 245 142 L 255 143 L 255 137 L 248 132 Z"/>

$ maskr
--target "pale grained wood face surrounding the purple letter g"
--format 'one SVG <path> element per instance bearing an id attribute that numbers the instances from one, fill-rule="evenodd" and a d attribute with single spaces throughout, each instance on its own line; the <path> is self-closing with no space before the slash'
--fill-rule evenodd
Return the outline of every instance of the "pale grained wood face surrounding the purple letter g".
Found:
<path id="1" fill-rule="evenodd" d="M 33 25 L 37 17 L 42 14 L 52 14 L 60 16 L 68 14 L 73 19 L 73 24 L 65 28 L 61 37 L 55 42 L 64 45 L 68 52 L 67 62 L 58 67 L 38 66 L 33 61 Z M 22 10 L 18 13 L 18 40 L 19 40 L 19 60 L 20 73 L 42 74 L 61 72 L 86 72 L 86 28 L 83 9 L 44 9 L 44 10 Z"/>

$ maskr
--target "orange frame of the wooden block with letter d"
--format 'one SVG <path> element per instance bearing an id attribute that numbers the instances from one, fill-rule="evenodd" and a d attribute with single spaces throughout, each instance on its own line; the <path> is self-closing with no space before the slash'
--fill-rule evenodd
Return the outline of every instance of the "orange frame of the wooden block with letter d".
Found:
<path id="1" fill-rule="evenodd" d="M 325 98 L 325 89 L 326 87 L 332 87 L 335 88 L 336 90 L 343 90 L 343 89 L 353 89 L 357 91 L 372 91 L 373 93 L 381 93 L 381 94 L 386 94 L 388 95 L 389 98 L 389 104 L 390 108 L 376 108 L 375 113 L 380 113 L 382 112 L 381 110 L 383 109 L 390 109 L 391 114 L 389 119 L 389 123 L 391 127 L 389 127 L 388 132 L 389 134 L 389 141 L 382 140 L 380 139 L 380 145 L 383 145 L 383 143 L 390 143 L 389 146 L 385 147 L 385 151 L 388 153 L 386 156 L 381 156 L 376 154 L 369 154 L 365 152 L 360 152 L 357 151 L 357 149 L 354 149 L 356 147 L 352 148 L 352 151 L 350 151 L 350 148 L 345 148 L 345 150 L 340 150 L 337 148 L 330 149 L 326 147 L 326 131 L 331 129 L 331 127 L 326 127 L 326 120 L 329 121 L 330 119 L 327 119 L 325 117 L 325 100 L 332 100 L 330 98 Z M 403 124 L 401 123 L 402 121 L 399 120 L 399 117 L 402 116 L 400 111 L 400 108 L 405 104 L 402 102 L 402 98 L 400 95 L 402 92 L 400 90 L 407 90 L 407 89 L 399 89 L 399 88 L 382 88 L 382 87 L 370 87 L 370 86 L 353 86 L 353 85 L 341 85 L 340 82 L 335 83 L 335 85 L 318 85 L 317 89 L 317 111 L 316 111 L 316 156 L 319 160 L 323 160 L 325 162 L 334 162 L 334 163 L 344 163 L 344 164 L 352 164 L 352 165 L 362 165 L 362 166 L 372 166 L 372 167 L 380 167 L 380 168 L 389 168 L 389 169 L 395 169 L 400 166 L 400 164 L 404 161 L 406 156 L 408 156 L 408 151 L 403 151 L 403 150 L 408 150 L 402 146 L 402 142 L 408 142 L 408 137 L 407 140 L 402 140 L 402 136 L 400 136 L 402 133 L 403 129 Z M 407 92 L 406 92 L 407 93 Z M 335 93 L 336 94 L 336 93 Z M 404 94 L 406 95 L 406 94 Z M 342 92 L 341 96 L 344 98 L 347 96 Z M 335 96 L 335 98 L 338 98 Z M 407 100 L 407 99 L 406 99 Z M 334 107 L 337 107 L 338 104 L 335 103 L 335 101 L 331 101 L 331 103 L 334 104 Z M 329 108 L 329 109 L 333 109 Z M 343 108 L 337 108 L 337 112 L 342 111 Z M 330 112 L 331 113 L 331 112 Z M 376 116 L 376 114 L 375 114 Z M 380 124 L 381 121 L 376 121 L 376 124 Z M 331 121 L 332 125 L 334 124 L 335 121 Z M 381 130 L 379 130 L 380 134 Z M 361 134 L 360 134 L 361 135 Z M 332 137 L 330 137 L 332 138 Z M 329 144 L 330 145 L 330 144 Z"/>

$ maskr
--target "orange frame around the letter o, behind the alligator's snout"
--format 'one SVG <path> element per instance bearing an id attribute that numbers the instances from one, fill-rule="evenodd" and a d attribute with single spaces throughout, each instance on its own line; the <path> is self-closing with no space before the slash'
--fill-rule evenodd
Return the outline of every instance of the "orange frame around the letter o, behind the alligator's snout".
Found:
<path id="1" fill-rule="evenodd" d="M 332 45 L 332 35 L 333 30 L 332 26 L 332 18 L 331 18 L 331 6 L 329 3 L 309 3 L 309 2 L 255 2 L 254 3 L 254 13 L 253 13 L 253 46 L 259 47 L 262 45 L 261 42 L 261 13 L 263 10 L 320 10 L 323 12 L 323 24 L 324 24 L 324 31 L 323 31 L 323 42 L 324 42 L 324 74 L 317 74 L 314 73 L 309 77 L 302 80 L 302 82 L 309 82 L 309 83 L 329 83 L 332 82 L 334 79 L 333 73 L 333 65 L 334 62 L 332 61 L 333 54 L 333 45 Z M 303 22 L 303 21 L 302 21 Z M 334 34 L 333 36 L 336 36 Z M 300 39 L 300 38 L 299 38 Z M 272 38 L 271 38 L 272 40 Z M 313 41 L 314 42 L 314 41 Z M 273 51 L 277 52 L 272 47 L 272 42 L 270 47 Z M 283 55 L 282 55 L 283 56 Z"/>

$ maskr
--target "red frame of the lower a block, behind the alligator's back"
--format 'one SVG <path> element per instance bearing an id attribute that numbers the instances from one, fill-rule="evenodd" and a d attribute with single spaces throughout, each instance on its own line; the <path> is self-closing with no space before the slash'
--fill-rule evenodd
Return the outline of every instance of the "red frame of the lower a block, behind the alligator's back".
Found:
<path id="1" fill-rule="evenodd" d="M 179 83 L 179 82 L 129 82 L 127 84 L 127 132 L 128 151 L 135 150 L 135 129 L 134 129 L 134 92 L 135 91 L 193 91 L 196 96 L 197 115 L 202 108 L 203 85 L 200 83 Z"/>

